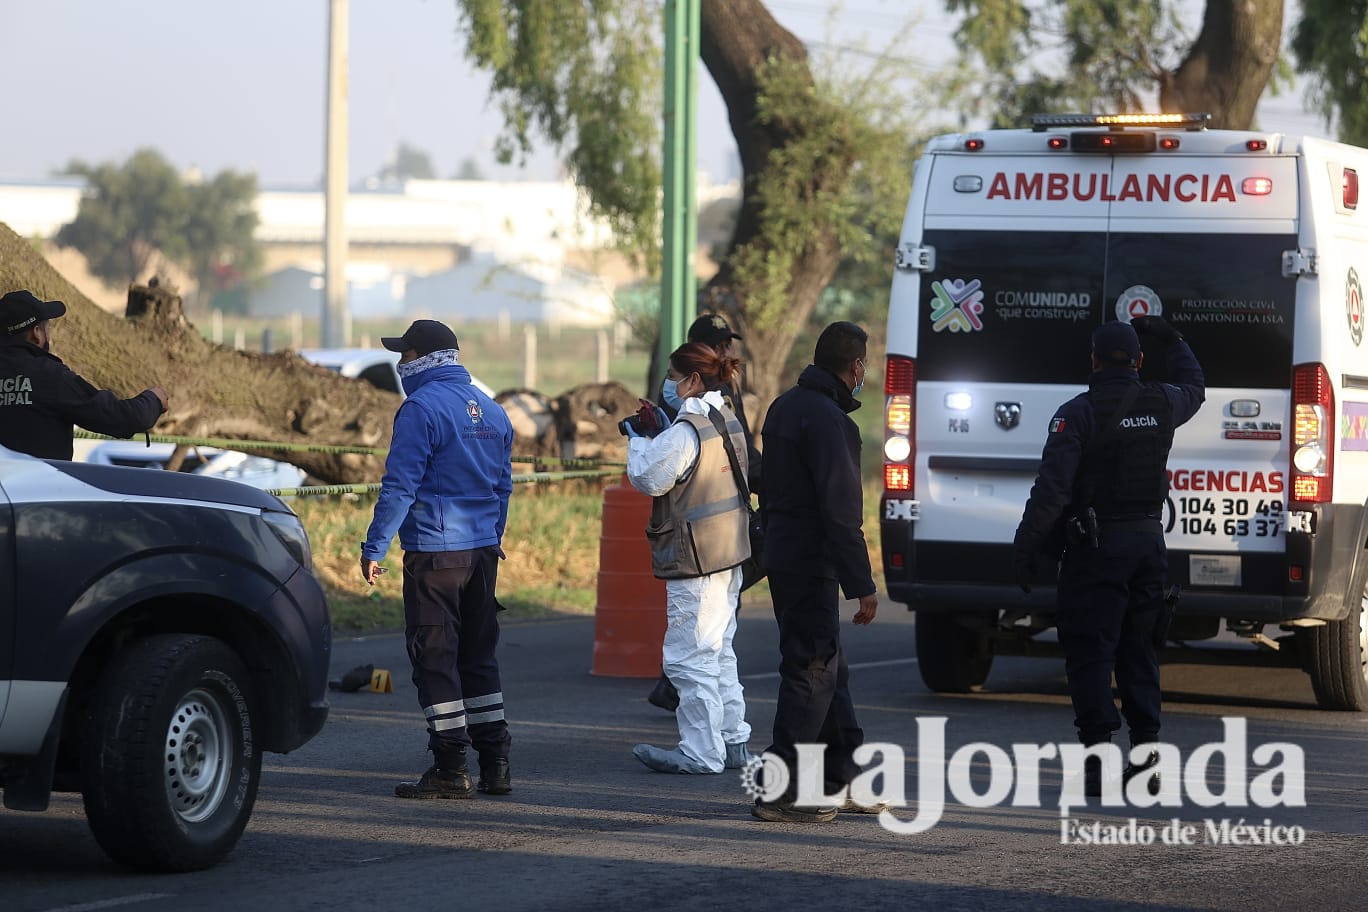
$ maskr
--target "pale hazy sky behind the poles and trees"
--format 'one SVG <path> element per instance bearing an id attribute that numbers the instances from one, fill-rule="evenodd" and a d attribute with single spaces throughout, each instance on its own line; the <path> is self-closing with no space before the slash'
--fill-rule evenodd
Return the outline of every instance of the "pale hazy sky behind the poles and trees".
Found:
<path id="1" fill-rule="evenodd" d="M 941 0 L 845 0 L 834 34 L 828 0 L 767 5 L 814 48 L 877 46 L 921 10 L 910 56 L 929 66 L 940 60 L 928 48 L 948 56 Z M 0 0 L 0 179 L 152 146 L 181 168 L 256 171 L 267 187 L 313 185 L 323 174 L 327 11 L 327 0 Z M 487 78 L 465 63 L 453 0 L 350 0 L 350 38 L 353 180 L 379 171 L 401 141 L 425 150 L 440 176 L 465 159 L 488 176 L 518 175 L 494 164 L 501 119 L 487 105 Z M 736 149 L 706 71 L 700 86 L 699 163 L 726 179 Z M 1323 133 L 1301 108 L 1300 93 L 1268 100 L 1261 126 Z M 546 150 L 524 174 L 555 172 Z"/>

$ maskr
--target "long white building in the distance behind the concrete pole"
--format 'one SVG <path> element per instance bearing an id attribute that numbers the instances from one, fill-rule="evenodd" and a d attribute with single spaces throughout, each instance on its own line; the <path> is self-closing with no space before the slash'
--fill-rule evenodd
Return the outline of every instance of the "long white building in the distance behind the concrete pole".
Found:
<path id="1" fill-rule="evenodd" d="M 75 219 L 83 189 L 79 179 L 0 180 L 0 222 L 51 239 Z M 699 183 L 700 206 L 739 196 L 737 185 Z M 267 275 L 246 290 L 248 313 L 321 313 L 323 193 L 268 189 L 256 208 Z M 613 243 L 569 180 L 406 180 L 353 190 L 345 223 L 354 317 L 614 320 L 613 283 L 564 265 L 568 254 Z"/>

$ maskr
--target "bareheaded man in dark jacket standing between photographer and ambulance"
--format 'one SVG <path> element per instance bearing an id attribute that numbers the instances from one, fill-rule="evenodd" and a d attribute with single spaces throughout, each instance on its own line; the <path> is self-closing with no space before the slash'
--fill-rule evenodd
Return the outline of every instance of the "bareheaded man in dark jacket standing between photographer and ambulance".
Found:
<path id="1" fill-rule="evenodd" d="M 859 428 L 848 413 L 865 387 L 867 335 L 833 323 L 817 339 L 813 364 L 769 409 L 765 440 L 765 570 L 778 621 L 780 688 L 769 752 L 789 768 L 789 789 L 757 800 L 762 820 L 832 820 L 836 808 L 798 807 L 799 744 L 824 744 L 826 794 L 859 775 L 851 756 L 865 733 L 855 718 L 840 637 L 840 599 L 859 599 L 855 623 L 878 611 L 865 543 Z M 848 801 L 850 809 L 859 808 Z"/>

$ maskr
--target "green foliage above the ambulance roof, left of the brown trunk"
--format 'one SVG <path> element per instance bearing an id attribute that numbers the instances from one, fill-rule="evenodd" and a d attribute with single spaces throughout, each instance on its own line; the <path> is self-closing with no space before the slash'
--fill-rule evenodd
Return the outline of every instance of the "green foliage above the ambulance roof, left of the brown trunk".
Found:
<path id="1" fill-rule="evenodd" d="M 1033 113 L 1142 111 L 1190 46 L 1175 0 L 945 0 L 964 15 L 951 103 L 992 127 Z"/>

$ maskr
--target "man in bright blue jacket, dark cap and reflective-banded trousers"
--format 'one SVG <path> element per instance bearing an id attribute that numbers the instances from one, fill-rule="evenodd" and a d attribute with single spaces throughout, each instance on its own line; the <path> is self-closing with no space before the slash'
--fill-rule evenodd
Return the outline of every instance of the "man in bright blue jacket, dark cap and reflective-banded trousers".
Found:
<path id="1" fill-rule="evenodd" d="M 361 546 L 361 576 L 375 584 L 398 532 L 405 636 L 432 751 L 427 773 L 394 793 L 471 797 L 465 753 L 473 747 L 480 760 L 475 788 L 506 794 L 512 738 L 495 656 L 494 585 L 513 492 L 513 427 L 471 383 L 456 334 L 445 324 L 415 320 L 402 336 L 380 343 L 401 353 L 408 398 L 394 416 L 380 496 Z"/>

